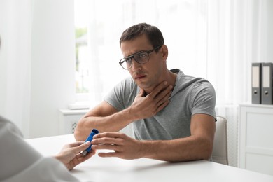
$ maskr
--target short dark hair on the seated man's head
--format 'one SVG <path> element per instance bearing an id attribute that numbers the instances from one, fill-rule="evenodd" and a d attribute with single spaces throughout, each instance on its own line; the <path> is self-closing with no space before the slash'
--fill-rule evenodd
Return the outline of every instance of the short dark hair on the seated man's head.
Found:
<path id="1" fill-rule="evenodd" d="M 164 44 L 163 35 L 158 27 L 146 23 L 139 23 L 123 31 L 123 34 L 120 37 L 120 45 L 124 41 L 132 41 L 134 38 L 143 34 L 146 34 L 148 41 L 153 45 L 153 48 Z M 157 52 L 158 50 L 155 51 Z"/>

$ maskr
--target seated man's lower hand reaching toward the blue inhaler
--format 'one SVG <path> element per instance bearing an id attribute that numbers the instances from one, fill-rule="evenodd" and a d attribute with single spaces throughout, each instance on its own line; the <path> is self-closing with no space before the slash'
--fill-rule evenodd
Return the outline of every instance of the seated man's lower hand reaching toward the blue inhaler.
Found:
<path id="1" fill-rule="evenodd" d="M 141 153 L 141 141 L 120 132 L 104 132 L 94 135 L 92 150 L 106 149 L 109 152 L 98 153 L 100 157 L 117 157 L 127 160 L 144 157 Z"/>

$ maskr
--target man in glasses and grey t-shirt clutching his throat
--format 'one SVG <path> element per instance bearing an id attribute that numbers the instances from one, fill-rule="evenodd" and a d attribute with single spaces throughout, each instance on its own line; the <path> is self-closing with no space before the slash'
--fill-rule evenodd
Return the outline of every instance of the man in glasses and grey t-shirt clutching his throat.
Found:
<path id="1" fill-rule="evenodd" d="M 209 160 L 216 120 L 211 83 L 167 69 L 168 48 L 155 26 L 125 30 L 120 48 L 119 63 L 131 77 L 80 119 L 75 138 L 84 141 L 93 128 L 99 130 L 92 149 L 111 150 L 101 157 Z M 135 139 L 118 132 L 130 123 Z"/>

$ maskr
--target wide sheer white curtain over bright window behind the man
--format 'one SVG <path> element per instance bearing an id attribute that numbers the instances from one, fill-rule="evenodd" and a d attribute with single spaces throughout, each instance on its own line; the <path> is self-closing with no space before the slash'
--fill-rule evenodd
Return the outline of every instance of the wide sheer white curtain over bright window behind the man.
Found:
<path id="1" fill-rule="evenodd" d="M 237 166 L 237 106 L 251 102 L 251 63 L 273 59 L 272 2 L 88 1 L 91 105 L 129 76 L 118 64 L 122 32 L 139 22 L 151 23 L 165 36 L 169 69 L 182 69 L 214 85 L 217 114 L 228 119 L 230 165 Z"/>

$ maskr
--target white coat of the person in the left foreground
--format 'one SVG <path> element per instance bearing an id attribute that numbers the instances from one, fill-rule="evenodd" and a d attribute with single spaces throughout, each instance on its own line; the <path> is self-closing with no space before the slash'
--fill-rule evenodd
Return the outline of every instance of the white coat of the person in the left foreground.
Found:
<path id="1" fill-rule="evenodd" d="M 0 181 L 78 181 L 59 160 L 43 157 L 0 116 Z"/>

